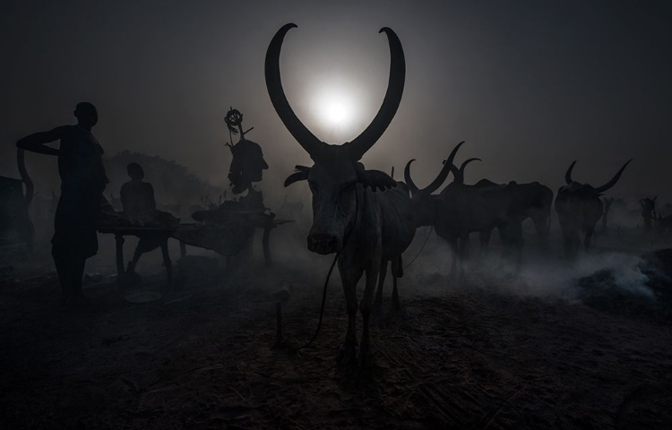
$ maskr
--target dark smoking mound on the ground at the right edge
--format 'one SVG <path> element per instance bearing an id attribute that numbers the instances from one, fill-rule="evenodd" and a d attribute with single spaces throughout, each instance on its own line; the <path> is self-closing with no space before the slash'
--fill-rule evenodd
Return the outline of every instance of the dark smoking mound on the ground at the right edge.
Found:
<path id="1" fill-rule="evenodd" d="M 643 254 L 632 268 L 596 271 L 578 288 L 582 302 L 599 311 L 672 324 L 672 249 Z"/>

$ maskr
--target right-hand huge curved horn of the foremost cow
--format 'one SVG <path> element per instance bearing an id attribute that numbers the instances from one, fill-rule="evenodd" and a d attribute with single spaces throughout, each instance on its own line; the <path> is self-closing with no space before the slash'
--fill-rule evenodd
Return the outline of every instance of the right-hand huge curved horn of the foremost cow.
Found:
<path id="1" fill-rule="evenodd" d="M 383 105 L 374 120 L 366 127 L 364 132 L 359 134 L 352 142 L 347 143 L 350 154 L 355 160 L 361 159 L 366 151 L 374 146 L 374 143 L 383 135 L 397 113 L 401 103 L 401 95 L 404 92 L 406 60 L 401 41 L 392 29 L 383 27 L 378 32 L 382 33 L 383 31 L 387 34 L 387 39 L 390 42 L 390 81 L 387 83 Z"/>

